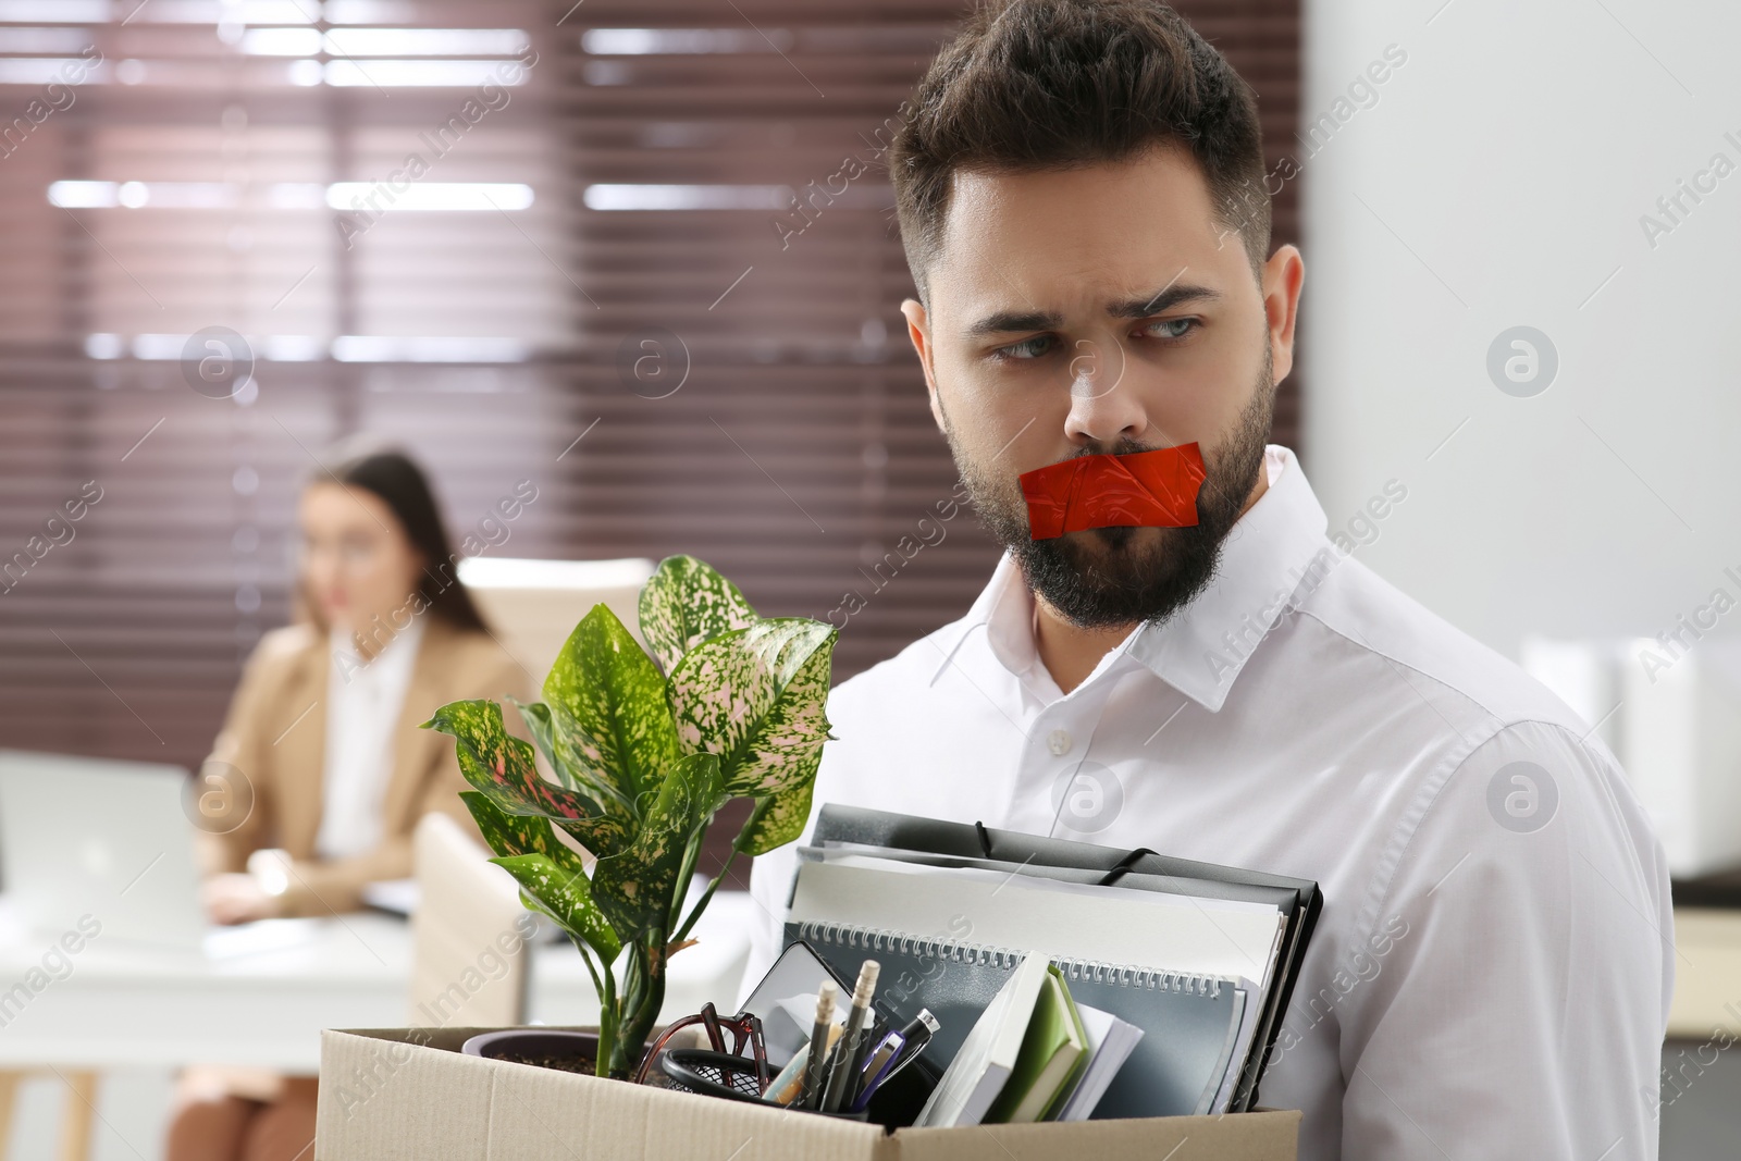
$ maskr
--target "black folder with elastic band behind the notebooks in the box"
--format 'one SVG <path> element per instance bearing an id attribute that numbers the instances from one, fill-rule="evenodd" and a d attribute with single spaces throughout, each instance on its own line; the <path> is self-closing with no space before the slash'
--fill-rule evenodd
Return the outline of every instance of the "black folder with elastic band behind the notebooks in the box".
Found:
<path id="1" fill-rule="evenodd" d="M 858 842 L 966 860 L 975 865 L 1003 863 L 1013 874 L 1276 907 L 1285 917 L 1285 926 L 1274 980 L 1259 1013 L 1255 1043 L 1262 1044 L 1262 1051 L 1252 1053 L 1241 1067 L 1229 1111 L 1245 1112 L 1257 1104 L 1257 1083 L 1269 1064 L 1269 1053 L 1281 1030 L 1281 1017 L 1288 1010 L 1294 982 L 1306 957 L 1306 945 L 1311 942 L 1318 912 L 1323 910 L 1323 896 L 1311 879 L 1200 863 L 1144 848 L 1123 851 L 1093 842 L 992 830 L 980 823 L 954 823 L 836 804 L 822 808 L 811 842 L 817 846 Z"/>

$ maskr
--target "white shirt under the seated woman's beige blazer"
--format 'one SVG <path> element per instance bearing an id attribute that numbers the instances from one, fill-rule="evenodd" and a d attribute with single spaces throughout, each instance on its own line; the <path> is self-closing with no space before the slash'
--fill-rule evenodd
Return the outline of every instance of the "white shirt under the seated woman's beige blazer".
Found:
<path id="1" fill-rule="evenodd" d="M 348 630 L 333 630 L 327 670 L 326 773 L 315 855 L 355 858 L 381 844 L 381 801 L 393 776 L 393 731 L 423 642 L 411 620 L 369 661 Z"/>

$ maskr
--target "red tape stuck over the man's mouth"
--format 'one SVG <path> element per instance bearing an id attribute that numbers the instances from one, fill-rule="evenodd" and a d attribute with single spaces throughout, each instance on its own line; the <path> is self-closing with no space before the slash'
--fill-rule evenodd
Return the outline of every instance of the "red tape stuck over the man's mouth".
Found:
<path id="1" fill-rule="evenodd" d="M 1196 444 L 1128 456 L 1076 456 L 1024 472 L 1034 540 L 1090 527 L 1187 527 L 1198 522 L 1203 451 Z"/>

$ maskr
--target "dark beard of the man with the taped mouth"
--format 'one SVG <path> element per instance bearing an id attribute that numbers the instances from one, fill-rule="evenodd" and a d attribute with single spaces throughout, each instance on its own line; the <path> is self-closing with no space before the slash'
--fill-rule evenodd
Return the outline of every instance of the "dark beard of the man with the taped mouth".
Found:
<path id="1" fill-rule="evenodd" d="M 949 430 L 961 480 L 985 529 L 1008 548 L 1027 587 L 1079 628 L 1160 623 L 1187 606 L 1215 578 L 1220 545 L 1233 529 L 1264 468 L 1264 446 L 1274 411 L 1271 357 L 1264 346 L 1262 378 L 1252 400 L 1215 449 L 1203 449 L 1207 477 L 1198 489 L 1198 522 L 1187 527 L 1099 527 L 1034 540 L 1027 501 L 1013 473 L 971 463 Z M 1086 447 L 1079 454 L 1154 451 L 1133 440 Z"/>

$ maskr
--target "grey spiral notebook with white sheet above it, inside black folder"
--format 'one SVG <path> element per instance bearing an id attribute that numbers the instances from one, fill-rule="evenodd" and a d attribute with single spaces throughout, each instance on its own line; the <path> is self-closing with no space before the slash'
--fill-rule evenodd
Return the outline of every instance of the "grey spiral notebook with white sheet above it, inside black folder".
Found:
<path id="1" fill-rule="evenodd" d="M 1064 973 L 1078 1003 L 1144 1029 L 1097 1117 L 1222 1112 L 1257 1027 L 1280 938 L 1274 909 L 1238 900 L 1069 886 L 977 869 L 914 867 L 801 849 L 787 942 L 806 940 L 846 978 L 883 964 L 879 1001 L 942 1022 L 928 1055 L 947 1067 L 1027 956 Z"/>

